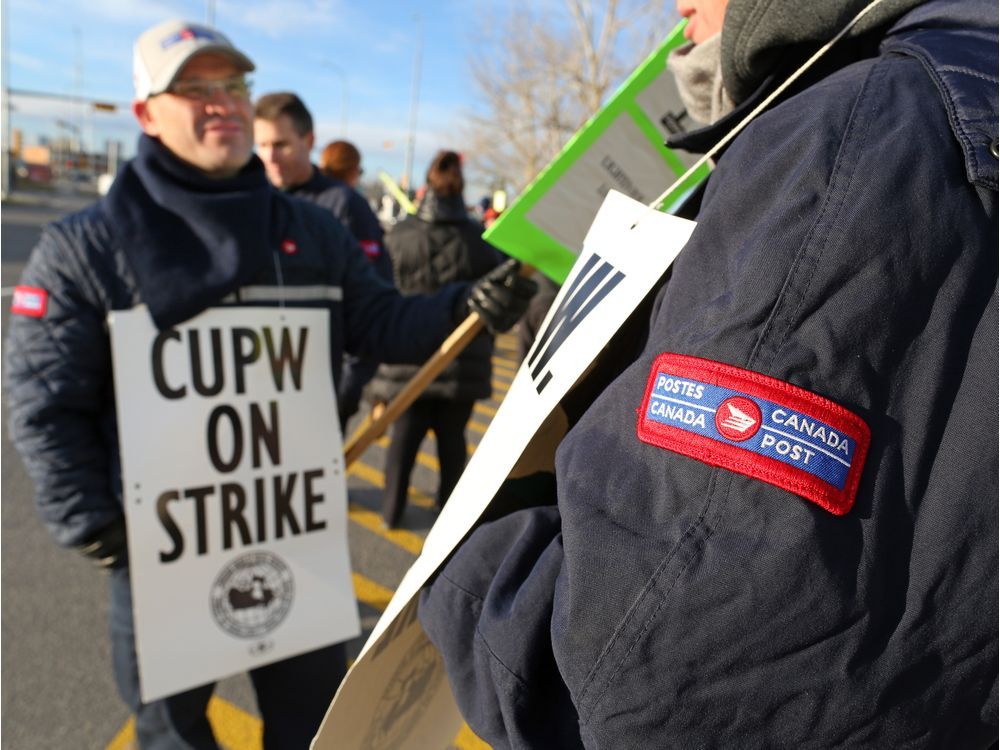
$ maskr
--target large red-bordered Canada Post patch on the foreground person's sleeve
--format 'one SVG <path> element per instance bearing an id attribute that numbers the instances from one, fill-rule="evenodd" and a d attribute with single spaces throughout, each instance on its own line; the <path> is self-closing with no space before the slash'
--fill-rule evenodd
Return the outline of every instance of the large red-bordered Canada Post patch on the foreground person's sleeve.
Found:
<path id="1" fill-rule="evenodd" d="M 639 439 L 773 484 L 835 515 L 854 505 L 871 433 L 839 404 L 750 370 L 682 354 L 653 363 Z"/>

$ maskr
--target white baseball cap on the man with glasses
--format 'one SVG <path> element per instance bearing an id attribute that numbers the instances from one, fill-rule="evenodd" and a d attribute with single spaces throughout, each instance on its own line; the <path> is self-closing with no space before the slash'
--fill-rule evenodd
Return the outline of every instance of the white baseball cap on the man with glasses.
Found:
<path id="1" fill-rule="evenodd" d="M 187 61 L 202 52 L 225 55 L 246 72 L 254 69 L 253 61 L 216 29 L 190 21 L 164 21 L 135 40 L 132 65 L 136 99 L 145 101 L 162 94 Z"/>

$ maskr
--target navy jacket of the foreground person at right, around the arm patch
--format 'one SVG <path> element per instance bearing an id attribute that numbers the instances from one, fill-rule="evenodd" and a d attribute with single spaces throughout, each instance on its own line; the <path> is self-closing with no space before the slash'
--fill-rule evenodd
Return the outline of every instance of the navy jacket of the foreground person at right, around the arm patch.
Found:
<path id="1" fill-rule="evenodd" d="M 996 745 L 996 4 L 831 54 L 719 160 L 557 504 L 481 526 L 422 596 L 496 750 Z M 858 415 L 853 508 L 640 439 L 665 352 Z"/>

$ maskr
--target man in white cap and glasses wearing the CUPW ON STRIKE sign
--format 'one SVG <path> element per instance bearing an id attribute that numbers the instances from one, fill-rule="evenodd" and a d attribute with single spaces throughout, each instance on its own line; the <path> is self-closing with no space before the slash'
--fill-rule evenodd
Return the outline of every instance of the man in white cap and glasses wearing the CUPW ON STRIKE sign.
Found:
<path id="1" fill-rule="evenodd" d="M 137 156 L 100 203 L 46 229 L 11 309 L 11 433 L 56 540 L 110 571 L 115 675 L 143 748 L 216 747 L 213 686 L 139 698 L 108 313 L 142 304 L 165 330 L 219 305 L 325 308 L 338 375 L 345 350 L 422 361 L 470 308 L 509 328 L 530 296 L 510 269 L 434 297 L 379 280 L 329 212 L 268 183 L 252 155 L 253 69 L 205 26 L 143 33 Z M 307 747 L 344 669 L 338 644 L 253 670 L 265 746 Z"/>

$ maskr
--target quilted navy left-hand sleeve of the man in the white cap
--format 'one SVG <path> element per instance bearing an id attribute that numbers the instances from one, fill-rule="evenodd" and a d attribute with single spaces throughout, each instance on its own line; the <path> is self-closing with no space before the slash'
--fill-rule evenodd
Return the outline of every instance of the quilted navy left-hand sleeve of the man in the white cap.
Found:
<path id="1" fill-rule="evenodd" d="M 93 269 L 50 227 L 21 284 L 47 292 L 41 318 L 12 314 L 5 351 L 8 419 L 39 511 L 62 545 L 87 541 L 122 513 L 107 450 L 113 425 L 105 313 Z M 113 416 L 110 417 L 113 420 Z M 113 439 L 113 437 L 112 437 Z"/>

